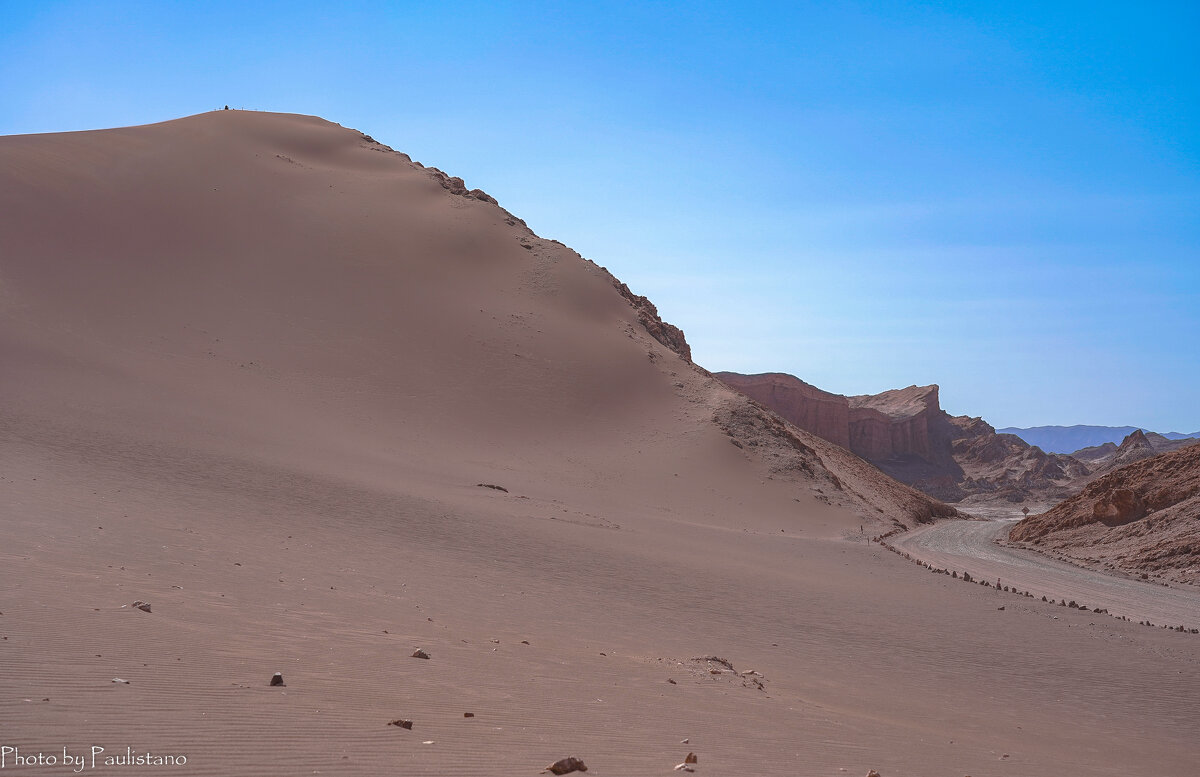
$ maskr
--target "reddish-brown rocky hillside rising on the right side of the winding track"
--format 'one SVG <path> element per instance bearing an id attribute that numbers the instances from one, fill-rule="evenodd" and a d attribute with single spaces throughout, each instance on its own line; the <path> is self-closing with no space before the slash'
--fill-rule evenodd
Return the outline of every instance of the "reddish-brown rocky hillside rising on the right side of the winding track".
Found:
<path id="1" fill-rule="evenodd" d="M 1016 524 L 1009 540 L 1085 566 L 1200 583 L 1200 445 L 1115 469 Z"/>

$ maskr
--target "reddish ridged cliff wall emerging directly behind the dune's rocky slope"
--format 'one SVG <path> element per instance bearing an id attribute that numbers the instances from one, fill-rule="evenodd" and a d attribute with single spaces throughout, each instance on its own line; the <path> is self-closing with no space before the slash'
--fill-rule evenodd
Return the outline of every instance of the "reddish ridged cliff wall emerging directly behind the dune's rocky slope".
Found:
<path id="1" fill-rule="evenodd" d="M 852 450 L 850 445 L 850 399 L 822 391 L 784 373 L 716 377 L 745 396 L 773 409 L 805 432 Z"/>

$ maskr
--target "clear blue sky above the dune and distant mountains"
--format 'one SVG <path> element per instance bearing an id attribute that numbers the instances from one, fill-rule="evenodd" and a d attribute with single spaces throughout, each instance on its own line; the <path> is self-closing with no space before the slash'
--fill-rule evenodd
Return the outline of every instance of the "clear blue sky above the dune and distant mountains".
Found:
<path id="1" fill-rule="evenodd" d="M 606 265 L 709 369 L 1200 429 L 1200 4 L 241 6 L 0 0 L 0 134 L 317 114 Z"/>

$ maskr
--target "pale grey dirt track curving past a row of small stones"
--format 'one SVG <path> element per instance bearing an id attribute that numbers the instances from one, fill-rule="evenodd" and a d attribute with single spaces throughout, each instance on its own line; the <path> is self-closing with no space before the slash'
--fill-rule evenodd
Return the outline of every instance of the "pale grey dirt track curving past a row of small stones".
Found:
<path id="1" fill-rule="evenodd" d="M 1074 600 L 1114 615 L 1159 625 L 1200 627 L 1200 590 L 1166 588 L 1103 574 L 1032 550 L 996 544 L 1015 520 L 947 520 L 892 537 L 898 550 L 937 567 L 1028 591 L 1038 598 Z"/>

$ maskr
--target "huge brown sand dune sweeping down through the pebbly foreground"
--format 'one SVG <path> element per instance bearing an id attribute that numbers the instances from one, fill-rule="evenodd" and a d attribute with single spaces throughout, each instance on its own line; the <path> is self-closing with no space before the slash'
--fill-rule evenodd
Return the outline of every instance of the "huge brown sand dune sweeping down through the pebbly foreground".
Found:
<path id="1" fill-rule="evenodd" d="M 4 138 L 0 176 L 0 745 L 188 775 L 1200 755 L 1198 640 L 846 541 L 930 507 L 355 132 Z"/>

